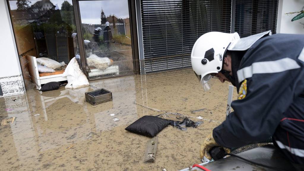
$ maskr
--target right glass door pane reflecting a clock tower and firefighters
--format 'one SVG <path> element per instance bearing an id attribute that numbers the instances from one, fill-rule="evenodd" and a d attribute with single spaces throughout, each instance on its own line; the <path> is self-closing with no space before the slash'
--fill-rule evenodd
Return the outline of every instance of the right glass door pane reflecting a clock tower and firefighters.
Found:
<path id="1" fill-rule="evenodd" d="M 128 0 L 79 1 L 90 78 L 134 74 Z"/>

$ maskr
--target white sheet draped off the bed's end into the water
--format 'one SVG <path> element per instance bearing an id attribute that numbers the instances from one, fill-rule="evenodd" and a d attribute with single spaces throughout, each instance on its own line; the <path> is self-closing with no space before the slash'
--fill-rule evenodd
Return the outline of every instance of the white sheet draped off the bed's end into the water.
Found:
<path id="1" fill-rule="evenodd" d="M 90 85 L 87 77 L 79 68 L 78 62 L 75 57 L 71 59 L 71 61 L 67 65 L 67 68 L 65 68 L 63 76 L 67 77 L 67 85 L 65 86 L 65 88 L 76 89 L 79 87 Z"/>

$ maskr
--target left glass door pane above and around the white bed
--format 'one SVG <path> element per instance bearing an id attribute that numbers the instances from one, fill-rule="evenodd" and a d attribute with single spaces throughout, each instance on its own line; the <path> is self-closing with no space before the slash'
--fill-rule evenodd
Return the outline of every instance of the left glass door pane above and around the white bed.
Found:
<path id="1" fill-rule="evenodd" d="M 64 64 L 75 56 L 79 58 L 71 0 L 9 1 L 9 7 L 27 89 L 33 87 L 26 55 L 60 62 L 61 67 L 52 68 L 56 72 L 64 71 Z"/>

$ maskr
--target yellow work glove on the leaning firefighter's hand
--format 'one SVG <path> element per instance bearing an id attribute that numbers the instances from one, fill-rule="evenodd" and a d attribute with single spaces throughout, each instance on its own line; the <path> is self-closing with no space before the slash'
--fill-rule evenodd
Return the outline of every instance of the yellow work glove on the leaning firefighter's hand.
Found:
<path id="1" fill-rule="evenodd" d="M 202 143 L 201 145 L 201 150 L 199 151 L 200 152 L 200 155 L 201 155 L 201 159 L 206 156 L 207 159 L 211 160 L 212 157 L 210 156 L 209 154 L 209 150 L 211 150 L 213 147 L 217 147 L 217 146 L 220 146 L 216 143 L 216 141 L 214 140 L 213 138 L 213 135 L 212 135 L 212 132 L 211 134 L 209 134 L 204 142 Z M 223 147 L 224 148 L 224 147 Z M 230 149 L 229 148 L 224 148 L 225 152 L 227 154 L 230 153 Z"/>

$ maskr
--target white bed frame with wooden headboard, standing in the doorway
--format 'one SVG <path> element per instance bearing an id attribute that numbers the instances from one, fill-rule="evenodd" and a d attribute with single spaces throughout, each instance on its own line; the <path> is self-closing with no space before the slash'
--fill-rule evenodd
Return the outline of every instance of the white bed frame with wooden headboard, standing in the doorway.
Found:
<path id="1" fill-rule="evenodd" d="M 53 82 L 53 81 L 59 82 L 59 81 L 67 80 L 67 77 L 62 76 L 63 75 L 62 72 L 51 72 L 52 75 L 50 73 L 46 73 L 46 74 L 42 74 L 45 76 L 39 76 L 36 57 L 26 55 L 26 59 L 29 61 L 28 64 L 29 75 L 31 75 L 31 79 L 33 83 L 36 84 L 36 88 L 38 90 L 41 89 L 41 84 L 46 84 L 48 82 Z"/>

